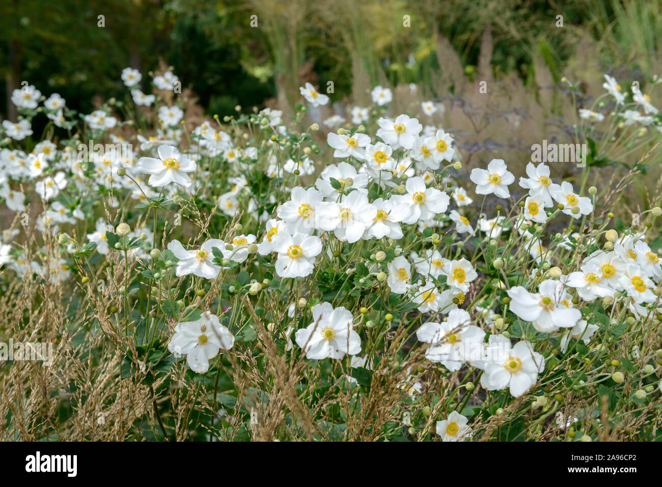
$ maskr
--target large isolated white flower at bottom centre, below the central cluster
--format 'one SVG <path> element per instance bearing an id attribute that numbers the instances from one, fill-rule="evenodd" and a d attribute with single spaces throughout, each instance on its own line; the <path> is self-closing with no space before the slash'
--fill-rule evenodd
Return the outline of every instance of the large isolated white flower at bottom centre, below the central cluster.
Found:
<path id="1" fill-rule="evenodd" d="M 352 327 L 353 319 L 342 306 L 334 308 L 330 302 L 321 302 L 312 308 L 312 323 L 297 330 L 295 341 L 311 360 L 357 355 L 361 353 L 361 338 Z"/>

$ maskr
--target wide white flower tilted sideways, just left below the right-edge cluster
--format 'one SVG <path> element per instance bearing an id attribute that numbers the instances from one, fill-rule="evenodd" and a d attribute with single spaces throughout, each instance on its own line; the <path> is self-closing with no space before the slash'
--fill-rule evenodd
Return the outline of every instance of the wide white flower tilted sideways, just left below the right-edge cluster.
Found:
<path id="1" fill-rule="evenodd" d="M 571 308 L 572 296 L 561 281 L 546 279 L 538 292 L 528 292 L 522 286 L 508 289 L 510 310 L 527 322 L 532 322 L 538 332 L 551 333 L 558 328 L 572 328 L 581 319 L 581 311 Z"/>

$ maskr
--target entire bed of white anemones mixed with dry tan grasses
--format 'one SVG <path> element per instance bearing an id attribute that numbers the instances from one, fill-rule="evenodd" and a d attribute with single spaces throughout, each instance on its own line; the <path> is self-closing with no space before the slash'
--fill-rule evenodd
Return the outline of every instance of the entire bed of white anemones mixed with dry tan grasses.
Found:
<path id="1" fill-rule="evenodd" d="M 137 75 L 154 99 L 83 116 L 16 94 L 0 330 L 55 346 L 3 368 L 3 439 L 659 439 L 654 96 L 564 80 L 573 122 L 533 140 L 589 149 L 533 163 L 494 100 L 196 120 Z M 34 144 L 43 112 L 72 135 Z"/>

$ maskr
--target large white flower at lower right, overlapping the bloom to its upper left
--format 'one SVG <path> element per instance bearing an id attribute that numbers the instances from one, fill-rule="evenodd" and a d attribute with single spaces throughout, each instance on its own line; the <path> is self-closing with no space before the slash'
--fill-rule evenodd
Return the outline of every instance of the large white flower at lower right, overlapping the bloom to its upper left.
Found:
<path id="1" fill-rule="evenodd" d="M 512 396 L 522 396 L 538 381 L 538 373 L 545 369 L 544 357 L 534 352 L 528 341 L 519 341 L 497 355 L 485 364 L 485 373 L 481 376 L 481 386 L 487 390 L 510 388 Z"/>

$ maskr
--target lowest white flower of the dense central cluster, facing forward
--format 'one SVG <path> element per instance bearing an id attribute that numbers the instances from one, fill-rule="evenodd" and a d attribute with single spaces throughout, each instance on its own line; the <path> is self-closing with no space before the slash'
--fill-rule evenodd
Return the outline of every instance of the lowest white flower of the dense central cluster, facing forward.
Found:
<path id="1" fill-rule="evenodd" d="M 278 253 L 275 263 L 280 277 L 306 277 L 312 273 L 315 257 L 322 251 L 322 240 L 307 234 L 280 234 L 273 240 L 273 249 Z"/>

